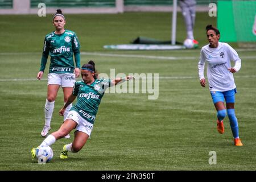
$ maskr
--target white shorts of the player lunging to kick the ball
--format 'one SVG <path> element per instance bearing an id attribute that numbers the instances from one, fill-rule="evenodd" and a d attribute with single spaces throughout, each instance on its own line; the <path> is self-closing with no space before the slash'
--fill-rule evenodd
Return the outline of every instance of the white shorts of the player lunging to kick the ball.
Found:
<path id="1" fill-rule="evenodd" d="M 72 119 L 77 123 L 76 131 L 82 131 L 90 137 L 90 133 L 92 133 L 93 124 L 86 121 L 84 118 L 81 117 L 79 113 L 77 113 L 75 110 L 71 110 L 68 113 L 68 116 L 66 119 Z"/>

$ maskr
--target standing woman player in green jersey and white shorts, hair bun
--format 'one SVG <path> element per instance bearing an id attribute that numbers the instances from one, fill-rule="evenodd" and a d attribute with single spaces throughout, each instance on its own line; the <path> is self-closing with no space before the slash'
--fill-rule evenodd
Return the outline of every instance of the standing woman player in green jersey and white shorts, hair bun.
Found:
<path id="1" fill-rule="evenodd" d="M 61 10 L 52 18 L 55 31 L 47 34 L 44 39 L 43 55 L 41 59 L 41 67 L 38 72 L 38 80 L 43 77 L 44 69 L 46 68 L 48 55 L 51 57 L 48 74 L 48 88 L 47 99 L 44 107 L 45 123 L 41 132 L 42 137 L 46 137 L 48 131 L 51 129 L 51 118 L 54 109 L 54 102 L 60 86 L 64 93 L 64 102 L 67 102 L 68 96 L 71 95 L 75 77 L 80 75 L 80 44 L 76 33 L 65 30 L 65 17 Z M 75 56 L 76 67 L 73 61 Z M 67 117 L 69 105 L 64 113 L 64 121 Z M 65 138 L 70 138 L 67 135 Z"/>

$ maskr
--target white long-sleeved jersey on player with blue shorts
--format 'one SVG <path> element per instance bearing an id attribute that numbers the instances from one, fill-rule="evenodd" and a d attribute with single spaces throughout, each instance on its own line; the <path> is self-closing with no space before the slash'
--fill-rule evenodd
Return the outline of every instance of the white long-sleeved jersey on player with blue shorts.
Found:
<path id="1" fill-rule="evenodd" d="M 225 92 L 236 88 L 230 61 L 234 61 L 234 67 L 238 72 L 241 68 L 241 59 L 237 52 L 227 43 L 218 43 L 217 48 L 210 48 L 209 44 L 201 48 L 198 64 L 199 78 L 204 78 L 204 65 L 207 61 L 207 77 L 210 91 Z"/>

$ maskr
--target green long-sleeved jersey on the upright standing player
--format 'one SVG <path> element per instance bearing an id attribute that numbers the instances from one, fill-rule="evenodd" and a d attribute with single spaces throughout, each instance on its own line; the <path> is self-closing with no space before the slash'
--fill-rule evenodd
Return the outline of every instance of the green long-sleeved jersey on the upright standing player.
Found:
<path id="1" fill-rule="evenodd" d="M 75 69 L 73 54 L 75 54 L 76 68 L 80 68 L 80 44 L 76 33 L 69 30 L 65 30 L 60 35 L 51 32 L 44 38 L 40 71 L 46 68 L 47 58 L 50 55 L 49 73 L 73 73 Z"/>

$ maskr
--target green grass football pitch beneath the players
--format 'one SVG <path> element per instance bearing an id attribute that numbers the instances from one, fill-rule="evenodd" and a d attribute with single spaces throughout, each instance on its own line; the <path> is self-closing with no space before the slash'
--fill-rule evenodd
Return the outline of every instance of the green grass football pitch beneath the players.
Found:
<path id="1" fill-rule="evenodd" d="M 256 52 L 237 49 L 241 71 L 234 75 L 236 115 L 244 146 L 233 146 L 228 118 L 225 133 L 216 130 L 216 111 L 208 88 L 197 75 L 200 49 L 180 51 L 110 51 L 106 44 L 127 44 L 137 36 L 168 40 L 170 13 L 66 15 L 65 28 L 77 33 L 81 64 L 92 59 L 101 73 L 159 73 L 159 97 L 148 94 L 105 94 L 91 139 L 77 154 L 59 159 L 71 139 L 52 145 L 53 159 L 46 165 L 32 162 L 30 150 L 43 138 L 44 104 L 47 94 L 47 63 L 44 80 L 36 80 L 43 39 L 53 30 L 51 15 L 0 15 L 0 170 L 255 170 L 256 167 Z M 183 42 L 183 17 L 177 19 L 177 40 Z M 207 44 L 205 26 L 216 18 L 197 13 L 195 38 Z M 105 54 L 105 55 L 104 55 Z M 139 57 L 141 56 L 141 57 Z M 150 57 L 154 56 L 154 58 Z M 175 57 L 174 60 L 168 57 Z M 81 77 L 80 77 L 81 78 Z M 59 90 L 52 131 L 63 118 Z M 217 164 L 210 165 L 209 152 L 216 151 Z"/>

